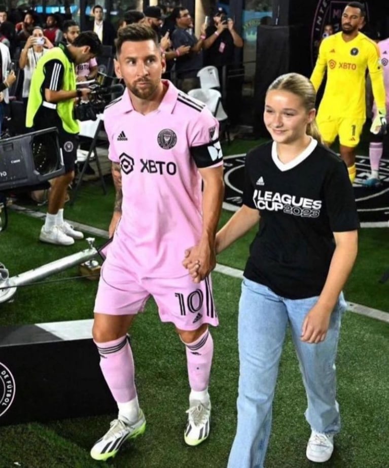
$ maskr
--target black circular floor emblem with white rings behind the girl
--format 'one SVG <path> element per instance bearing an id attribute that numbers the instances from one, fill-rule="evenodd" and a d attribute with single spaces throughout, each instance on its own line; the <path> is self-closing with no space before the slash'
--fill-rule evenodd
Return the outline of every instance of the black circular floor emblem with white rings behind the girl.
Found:
<path id="1" fill-rule="evenodd" d="M 244 178 L 244 154 L 224 158 L 224 182 L 226 185 L 223 207 L 236 211 L 242 204 Z M 369 158 L 357 156 L 357 178 L 353 184 L 361 223 L 371 227 L 387 226 L 389 220 L 389 160 L 381 159 L 379 166 L 382 185 L 366 188 L 363 182 L 370 175 Z"/>

